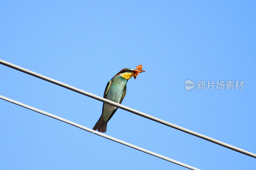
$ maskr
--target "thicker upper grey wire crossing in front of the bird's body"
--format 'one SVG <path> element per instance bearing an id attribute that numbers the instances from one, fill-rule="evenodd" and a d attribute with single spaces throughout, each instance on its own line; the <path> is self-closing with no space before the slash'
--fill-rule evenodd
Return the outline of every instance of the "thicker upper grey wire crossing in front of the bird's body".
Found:
<path id="1" fill-rule="evenodd" d="M 226 144 L 226 143 L 221 142 L 221 141 L 219 141 L 219 140 L 216 140 L 216 139 L 213 139 L 213 138 L 211 138 L 211 137 L 207 137 L 207 136 L 202 135 L 202 134 L 200 134 L 200 133 L 194 132 L 194 131 L 192 131 L 192 130 L 189 130 L 189 129 L 186 129 L 186 128 L 182 128 L 182 127 L 180 127 L 180 126 L 178 126 L 178 125 L 172 124 L 172 123 L 170 123 L 170 122 L 166 122 L 166 121 L 161 120 L 161 119 L 158 119 L 158 118 L 156 118 L 156 117 L 154 117 L 154 116 L 145 114 L 145 113 L 140 112 L 140 111 L 138 111 L 138 110 L 135 110 L 135 109 L 132 109 L 132 108 L 130 108 L 130 107 L 126 107 L 126 106 L 121 105 L 121 104 L 119 104 L 119 103 L 113 102 L 113 101 L 111 101 L 111 100 L 104 99 L 104 98 L 102 98 L 102 97 L 100 97 L 100 96 L 97 96 L 97 95 L 95 95 L 95 94 L 86 92 L 86 91 L 84 91 L 84 90 L 78 89 L 78 88 L 73 87 L 73 86 L 71 86 L 71 85 L 67 85 L 67 84 L 65 84 L 65 83 L 62 83 L 62 82 L 57 81 L 57 80 L 54 80 L 54 79 L 52 79 L 52 78 L 48 78 L 48 77 L 46 77 L 46 76 L 43 76 L 43 75 L 38 74 L 38 73 L 35 73 L 35 72 L 33 72 L 33 71 L 24 69 L 24 68 L 22 68 L 22 67 L 19 67 L 19 66 L 17 66 L 17 65 L 12 64 L 12 63 L 8 63 L 8 62 L 6 62 L 6 61 L 4 61 L 4 60 L 1 60 L 1 59 L 0 59 L 0 64 L 3 64 L 3 65 L 5 65 L 5 66 L 10 67 L 10 68 L 13 68 L 13 69 L 15 69 L 15 70 L 19 70 L 19 71 L 24 72 L 24 73 L 26 73 L 26 74 L 29 74 L 29 75 L 31 75 L 31 76 L 34 76 L 34 77 L 43 79 L 43 80 L 48 81 L 48 82 L 50 82 L 50 83 L 53 83 L 53 84 L 55 84 L 55 85 L 59 85 L 59 86 L 64 87 L 64 88 L 66 88 L 66 89 L 72 90 L 72 91 L 74 91 L 74 92 L 78 92 L 78 93 L 80 93 L 80 94 L 83 94 L 83 95 L 85 95 L 85 96 L 91 97 L 91 98 L 93 98 L 93 99 L 96 99 L 96 100 L 99 100 L 99 101 L 102 101 L 102 102 L 111 104 L 111 105 L 113 105 L 113 106 L 119 107 L 119 108 L 121 108 L 121 109 L 123 109 L 123 110 L 126 110 L 126 111 L 128 111 L 128 112 L 131 112 L 131 113 L 133 113 L 133 114 L 136 114 L 136 115 L 145 117 L 145 118 L 147 118 L 147 119 L 150 119 L 150 120 L 152 120 L 152 121 L 155 121 L 155 122 L 164 124 L 164 125 L 169 126 L 169 127 L 171 127 L 171 128 L 178 129 L 178 130 L 183 131 L 183 132 L 186 132 L 186 133 L 188 133 L 188 134 L 190 134 L 190 135 L 193 135 L 193 136 L 196 136 L 196 137 L 200 137 L 200 138 L 202 138 L 202 139 L 204 139 L 204 140 L 210 141 L 210 142 L 215 143 L 215 144 L 218 144 L 218 145 L 220 145 L 220 146 L 224 146 L 224 147 L 226 147 L 226 148 L 228 148 L 228 149 L 231 149 L 231 150 L 234 150 L 234 151 L 236 151 L 236 152 L 240 152 L 240 153 L 243 153 L 243 154 L 245 154 L 245 155 L 248 155 L 248 156 L 251 156 L 251 157 L 253 157 L 253 158 L 256 158 L 256 154 L 254 154 L 254 153 L 252 153 L 252 152 L 245 151 L 245 150 L 240 149 L 240 148 L 238 148 L 238 147 L 236 147 L 236 146 L 233 146 L 233 145 L 230 145 L 230 144 Z"/>

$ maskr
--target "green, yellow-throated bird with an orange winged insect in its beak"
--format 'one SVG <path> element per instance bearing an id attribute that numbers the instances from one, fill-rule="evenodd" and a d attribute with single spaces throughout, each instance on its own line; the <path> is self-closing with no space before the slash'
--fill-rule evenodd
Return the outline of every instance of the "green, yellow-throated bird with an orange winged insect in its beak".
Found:
<path id="1" fill-rule="evenodd" d="M 103 98 L 114 101 L 121 104 L 125 93 L 126 93 L 126 83 L 127 81 L 138 76 L 139 73 L 145 72 L 142 70 L 142 65 L 138 65 L 136 70 L 133 69 L 123 69 L 117 73 L 107 84 Z M 107 131 L 107 123 L 109 119 L 114 115 L 118 107 L 112 106 L 108 103 L 103 103 L 102 114 L 100 119 L 93 127 L 93 130 L 98 130 L 99 132 Z"/>

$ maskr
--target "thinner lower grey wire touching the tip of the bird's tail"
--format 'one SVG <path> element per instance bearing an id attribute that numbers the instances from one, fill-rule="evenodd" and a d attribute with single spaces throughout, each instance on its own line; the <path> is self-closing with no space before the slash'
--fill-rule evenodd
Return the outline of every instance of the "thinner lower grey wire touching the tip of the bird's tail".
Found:
<path id="1" fill-rule="evenodd" d="M 101 137 L 105 137 L 105 138 L 107 138 L 107 139 L 109 139 L 109 140 L 112 140 L 112 141 L 115 141 L 115 142 L 117 142 L 117 143 L 119 143 L 119 144 L 123 144 L 123 145 L 129 146 L 129 147 L 131 147 L 131 148 L 133 148 L 133 149 L 139 150 L 139 151 L 141 151 L 141 152 L 148 153 L 149 155 L 153 155 L 153 156 L 155 156 L 155 157 L 158 157 L 158 158 L 167 160 L 167 161 L 169 161 L 169 162 L 172 162 L 172 163 L 174 163 L 174 164 L 177 164 L 177 165 L 186 167 L 186 168 L 188 168 L 188 169 L 200 170 L 200 169 L 195 168 L 195 167 L 193 167 L 193 166 L 189 166 L 189 165 L 184 164 L 184 163 L 182 163 L 182 162 L 179 162 L 179 161 L 177 161 L 177 160 L 173 160 L 173 159 L 171 159 L 171 158 L 165 157 L 165 156 L 160 155 L 160 154 L 157 154 L 157 153 L 155 153 L 155 152 L 148 151 L 148 150 L 146 150 L 146 149 L 140 148 L 140 147 L 135 146 L 135 145 L 133 145 L 133 144 L 124 142 L 124 141 L 122 141 L 122 140 L 119 140 L 119 139 L 116 139 L 116 138 L 114 138 L 114 137 L 105 135 L 105 134 L 100 133 L 100 132 L 97 132 L 97 131 L 95 131 L 95 130 L 86 128 L 86 127 L 84 127 L 84 126 L 82 126 L 82 125 L 80 125 L 80 124 L 77 124 L 77 123 L 75 123 L 75 122 L 71 122 L 71 121 L 69 121 L 69 120 L 67 120 L 67 119 L 61 118 L 61 117 L 56 116 L 56 115 L 52 115 L 52 114 L 50 114 L 50 113 L 44 112 L 44 111 L 42 111 L 42 110 L 39 110 L 39 109 L 37 109 L 37 108 L 34 108 L 34 107 L 31 107 L 31 106 L 25 105 L 25 104 L 23 104 L 23 103 L 20 103 L 20 102 L 18 102 L 18 101 L 12 100 L 12 99 L 9 99 L 9 98 L 7 98 L 7 97 L 4 97 L 4 96 L 1 96 L 1 95 L 0 95 L 0 99 L 3 99 L 3 100 L 5 100 L 5 101 L 9 101 L 9 102 L 11 102 L 11 103 L 13 103 L 13 104 L 16 104 L 16 105 L 19 105 L 19 106 L 21 106 L 21 107 L 25 107 L 25 108 L 27 108 L 27 109 L 29 109 L 29 110 L 33 110 L 33 111 L 35 111 L 35 112 L 37 112 L 37 113 L 41 113 L 41 114 L 43 114 L 43 115 L 52 117 L 52 118 L 54 118 L 54 119 L 60 120 L 60 121 L 62 121 L 62 122 L 68 123 L 68 124 L 70 124 L 70 125 L 73 125 L 73 126 L 75 126 L 75 127 L 77 127 L 77 128 L 86 130 L 86 131 L 88 131 L 88 132 L 91 132 L 91 133 L 93 133 L 93 134 L 99 135 L 99 136 L 101 136 Z"/>

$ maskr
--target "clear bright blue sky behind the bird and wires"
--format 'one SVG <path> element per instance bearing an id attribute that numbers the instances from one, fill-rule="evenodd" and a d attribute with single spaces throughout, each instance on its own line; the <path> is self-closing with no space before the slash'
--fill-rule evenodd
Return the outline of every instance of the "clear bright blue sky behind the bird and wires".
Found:
<path id="1" fill-rule="evenodd" d="M 255 1 L 1 1 L 0 58 L 103 96 L 121 69 L 123 105 L 256 153 Z M 102 102 L 0 65 L 0 95 L 92 128 Z M 187 91 L 185 81 L 244 81 Z M 216 87 L 216 86 L 215 86 Z M 1 169 L 186 169 L 0 100 Z M 200 169 L 256 159 L 118 109 L 107 135 Z"/>

